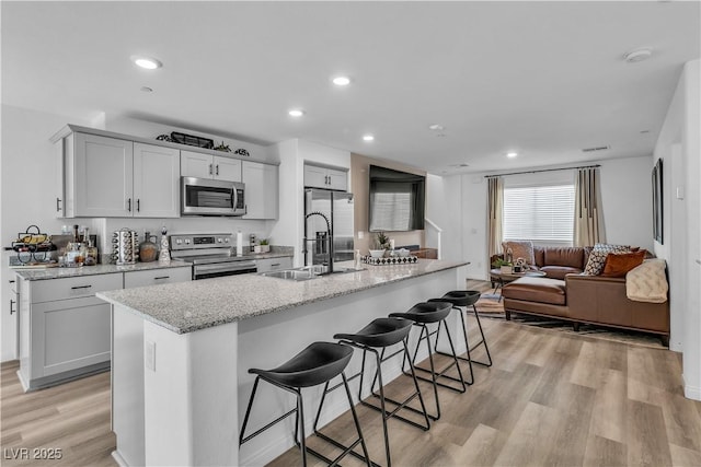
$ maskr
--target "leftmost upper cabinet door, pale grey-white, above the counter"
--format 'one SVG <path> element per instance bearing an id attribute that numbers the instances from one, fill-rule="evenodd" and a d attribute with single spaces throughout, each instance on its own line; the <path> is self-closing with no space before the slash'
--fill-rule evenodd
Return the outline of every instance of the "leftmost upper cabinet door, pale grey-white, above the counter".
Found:
<path id="1" fill-rule="evenodd" d="M 134 143 L 95 135 L 74 133 L 67 202 L 72 217 L 125 218 L 134 209 Z"/>

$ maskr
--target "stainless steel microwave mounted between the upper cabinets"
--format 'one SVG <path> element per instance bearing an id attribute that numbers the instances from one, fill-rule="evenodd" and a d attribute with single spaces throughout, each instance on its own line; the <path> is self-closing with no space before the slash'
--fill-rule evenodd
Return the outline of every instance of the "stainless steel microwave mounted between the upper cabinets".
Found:
<path id="1" fill-rule="evenodd" d="M 183 215 L 244 215 L 245 185 L 240 182 L 182 177 Z"/>

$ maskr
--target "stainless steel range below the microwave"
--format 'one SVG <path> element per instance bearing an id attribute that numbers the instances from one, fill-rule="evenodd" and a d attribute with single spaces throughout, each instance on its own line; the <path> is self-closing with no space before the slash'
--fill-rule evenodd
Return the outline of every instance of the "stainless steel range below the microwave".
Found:
<path id="1" fill-rule="evenodd" d="M 193 280 L 257 272 L 254 260 L 232 254 L 231 234 L 171 235 L 171 257 L 193 264 Z"/>

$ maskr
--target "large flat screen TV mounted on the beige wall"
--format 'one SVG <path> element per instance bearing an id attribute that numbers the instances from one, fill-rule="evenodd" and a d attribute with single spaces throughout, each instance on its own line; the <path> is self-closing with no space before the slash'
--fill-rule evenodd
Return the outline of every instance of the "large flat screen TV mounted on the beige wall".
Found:
<path id="1" fill-rule="evenodd" d="M 424 229 L 426 177 L 370 165 L 370 232 Z"/>

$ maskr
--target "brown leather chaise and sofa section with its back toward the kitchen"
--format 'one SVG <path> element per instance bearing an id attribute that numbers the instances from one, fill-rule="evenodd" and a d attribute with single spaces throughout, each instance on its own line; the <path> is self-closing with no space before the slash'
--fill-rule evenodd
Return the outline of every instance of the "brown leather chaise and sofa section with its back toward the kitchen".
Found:
<path id="1" fill-rule="evenodd" d="M 550 273 L 549 273 L 550 276 Z M 669 301 L 634 302 L 625 294 L 625 278 L 570 273 L 564 280 L 520 278 L 504 285 L 506 319 L 512 313 L 552 316 L 574 323 L 612 326 L 659 335 L 669 345 Z"/>

